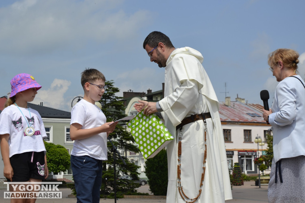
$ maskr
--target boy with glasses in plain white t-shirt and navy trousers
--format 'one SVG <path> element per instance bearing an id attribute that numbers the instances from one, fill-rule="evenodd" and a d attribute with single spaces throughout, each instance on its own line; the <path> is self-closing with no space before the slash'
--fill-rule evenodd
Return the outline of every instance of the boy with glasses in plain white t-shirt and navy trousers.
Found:
<path id="1" fill-rule="evenodd" d="M 107 160 L 107 137 L 117 122 L 106 123 L 106 116 L 95 102 L 105 92 L 105 76 L 96 69 L 81 73 L 84 98 L 71 111 L 71 169 L 77 202 L 99 202 L 102 184 L 102 161 Z"/>

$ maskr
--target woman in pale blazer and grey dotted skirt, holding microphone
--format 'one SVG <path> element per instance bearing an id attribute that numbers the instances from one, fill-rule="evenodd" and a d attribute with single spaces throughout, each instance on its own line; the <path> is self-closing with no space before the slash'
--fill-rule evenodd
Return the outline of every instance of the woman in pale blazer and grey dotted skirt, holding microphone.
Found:
<path id="1" fill-rule="evenodd" d="M 268 64 L 279 82 L 264 120 L 273 131 L 273 161 L 268 186 L 269 202 L 305 202 L 305 86 L 296 74 L 299 54 L 277 49 Z"/>

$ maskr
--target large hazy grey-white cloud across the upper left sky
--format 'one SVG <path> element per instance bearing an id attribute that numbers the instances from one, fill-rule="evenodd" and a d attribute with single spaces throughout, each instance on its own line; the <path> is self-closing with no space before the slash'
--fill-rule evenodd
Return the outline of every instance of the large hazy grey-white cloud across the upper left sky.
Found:
<path id="1" fill-rule="evenodd" d="M 0 53 L 41 54 L 134 36 L 148 12 L 127 14 L 123 1 L 23 0 L 0 9 Z"/>

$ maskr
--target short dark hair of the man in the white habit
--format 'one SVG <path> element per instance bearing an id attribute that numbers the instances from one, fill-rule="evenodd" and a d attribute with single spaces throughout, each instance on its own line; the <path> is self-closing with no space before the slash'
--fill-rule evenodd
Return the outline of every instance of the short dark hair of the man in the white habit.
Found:
<path id="1" fill-rule="evenodd" d="M 159 42 L 162 42 L 167 48 L 174 48 L 173 44 L 170 41 L 170 38 L 167 37 L 162 32 L 153 31 L 147 35 L 143 42 L 143 48 L 145 49 L 145 46 L 148 45 L 150 47 L 156 47 Z"/>

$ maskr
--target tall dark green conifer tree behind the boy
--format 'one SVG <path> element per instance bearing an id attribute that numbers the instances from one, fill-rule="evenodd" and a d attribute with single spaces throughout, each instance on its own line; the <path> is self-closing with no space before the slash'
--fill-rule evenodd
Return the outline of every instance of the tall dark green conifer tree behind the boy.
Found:
<path id="1" fill-rule="evenodd" d="M 118 119 L 124 118 L 125 108 L 122 101 L 122 97 L 116 96 L 116 94 L 120 91 L 119 88 L 114 87 L 113 80 L 106 81 L 105 85 L 107 86 L 107 91 L 103 94 L 101 100 L 102 111 L 107 118 L 107 122 L 116 121 Z M 109 138 L 112 143 L 118 148 L 118 151 L 134 151 L 139 152 L 139 149 L 134 144 L 129 141 L 134 141 L 133 137 L 129 132 L 124 128 L 126 123 L 117 124 L 113 133 L 109 134 Z M 136 188 L 140 187 L 138 183 L 134 183 L 131 180 L 118 180 L 120 175 L 131 175 L 134 180 L 138 180 L 138 168 L 134 163 L 128 161 L 127 157 L 122 157 L 126 162 L 124 165 L 123 161 L 118 157 L 116 157 L 116 180 L 114 179 L 114 167 L 113 167 L 113 146 L 108 141 L 108 160 L 103 162 L 103 174 L 102 174 L 102 187 L 101 194 L 109 195 L 114 192 L 114 181 L 116 181 L 116 191 L 117 195 L 120 194 L 132 194 L 136 193 Z M 121 198 L 120 196 L 117 196 Z"/>

